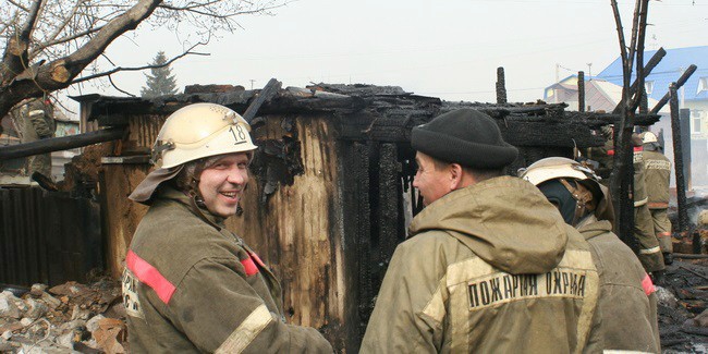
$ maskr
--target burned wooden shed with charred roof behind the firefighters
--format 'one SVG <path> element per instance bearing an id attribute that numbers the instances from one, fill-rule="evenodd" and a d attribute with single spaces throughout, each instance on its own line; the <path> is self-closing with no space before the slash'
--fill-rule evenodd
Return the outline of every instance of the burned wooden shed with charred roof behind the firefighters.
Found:
<path id="1" fill-rule="evenodd" d="M 159 126 L 185 105 L 210 101 L 244 112 L 257 91 L 83 98 L 86 120 L 129 126 L 111 143 L 101 172 L 108 265 L 114 276 L 146 209 L 127 195 L 149 171 Z M 284 289 L 289 321 L 320 329 L 339 351 L 356 352 L 395 246 L 419 209 L 411 186 L 413 126 L 461 107 L 495 118 L 522 151 L 509 169 L 574 147 L 602 145 L 594 130 L 612 117 L 572 115 L 564 105 L 443 102 L 399 87 L 315 85 L 288 88 L 252 122 L 259 150 L 242 211 L 228 227 L 269 263 Z"/>

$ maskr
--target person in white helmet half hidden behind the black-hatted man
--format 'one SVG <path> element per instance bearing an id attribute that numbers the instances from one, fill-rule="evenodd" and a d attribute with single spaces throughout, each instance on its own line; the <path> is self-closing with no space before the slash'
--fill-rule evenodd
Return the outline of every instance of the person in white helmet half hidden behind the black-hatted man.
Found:
<path id="1" fill-rule="evenodd" d="M 636 255 L 612 233 L 607 187 L 593 170 L 563 157 L 541 159 L 520 172 L 590 244 L 600 276 L 603 349 L 659 353 L 655 288 Z"/>

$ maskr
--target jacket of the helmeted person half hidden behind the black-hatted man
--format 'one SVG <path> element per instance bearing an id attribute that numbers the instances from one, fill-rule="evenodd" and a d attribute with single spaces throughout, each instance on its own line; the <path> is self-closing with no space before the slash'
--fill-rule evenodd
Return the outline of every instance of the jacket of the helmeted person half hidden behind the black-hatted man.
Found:
<path id="1" fill-rule="evenodd" d="M 605 350 L 659 353 L 657 295 L 651 279 L 612 224 L 590 215 L 578 224 L 600 276 Z"/>

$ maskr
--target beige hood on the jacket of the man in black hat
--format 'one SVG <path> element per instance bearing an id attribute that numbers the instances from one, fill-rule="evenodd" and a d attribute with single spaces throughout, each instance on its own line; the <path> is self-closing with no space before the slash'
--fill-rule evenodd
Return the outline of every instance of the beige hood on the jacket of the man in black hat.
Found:
<path id="1" fill-rule="evenodd" d="M 544 273 L 565 253 L 567 225 L 532 183 L 499 176 L 453 191 L 428 205 L 410 234 L 443 231 L 508 273 Z M 572 228 L 571 228 L 572 229 Z"/>

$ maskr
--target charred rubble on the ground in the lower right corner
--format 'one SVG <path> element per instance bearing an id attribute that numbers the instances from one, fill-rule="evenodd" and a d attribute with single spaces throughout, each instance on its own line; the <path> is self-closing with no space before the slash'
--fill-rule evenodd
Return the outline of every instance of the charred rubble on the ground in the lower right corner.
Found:
<path id="1" fill-rule="evenodd" d="M 708 259 L 675 260 L 666 278 L 657 286 L 662 350 L 708 352 Z"/>

